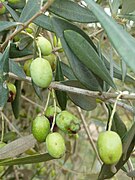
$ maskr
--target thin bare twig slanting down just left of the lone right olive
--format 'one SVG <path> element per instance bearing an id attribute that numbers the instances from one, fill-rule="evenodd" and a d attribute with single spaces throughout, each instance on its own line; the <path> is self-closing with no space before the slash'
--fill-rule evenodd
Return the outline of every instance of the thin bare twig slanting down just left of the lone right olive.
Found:
<path id="1" fill-rule="evenodd" d="M 88 129 L 88 127 L 87 127 L 87 123 L 86 123 L 85 118 L 84 118 L 84 116 L 83 116 L 83 114 L 82 114 L 81 108 L 77 107 L 77 110 L 78 110 L 79 115 L 80 115 L 80 117 L 81 117 L 81 119 L 82 119 L 82 122 L 83 122 L 83 125 L 84 125 L 84 129 L 85 129 L 85 131 L 86 131 L 86 133 L 87 133 L 87 135 L 88 135 L 89 142 L 90 142 L 93 150 L 95 151 L 95 154 L 96 154 L 96 156 L 97 156 L 97 159 L 99 160 L 100 164 L 102 164 L 102 162 L 101 162 L 101 160 L 100 160 L 100 157 L 99 157 L 99 155 L 98 155 L 97 148 L 96 148 L 96 146 L 95 146 L 95 144 L 94 144 L 94 142 L 93 142 L 93 139 L 92 139 L 91 134 L 90 134 L 90 132 L 89 132 L 89 129 Z"/>

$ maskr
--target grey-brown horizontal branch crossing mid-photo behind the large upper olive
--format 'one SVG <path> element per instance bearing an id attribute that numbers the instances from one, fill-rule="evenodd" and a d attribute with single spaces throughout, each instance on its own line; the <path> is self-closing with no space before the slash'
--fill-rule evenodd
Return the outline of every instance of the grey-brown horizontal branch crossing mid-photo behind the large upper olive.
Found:
<path id="1" fill-rule="evenodd" d="M 17 79 L 17 80 L 22 80 L 28 83 L 31 83 L 31 78 L 30 77 L 26 77 L 25 79 L 22 79 L 18 76 L 16 76 L 13 73 L 9 73 L 9 76 Z M 70 92 L 70 93 L 74 93 L 74 94 L 80 94 L 80 95 L 84 95 L 84 96 L 88 96 L 88 97 L 93 97 L 93 98 L 97 98 L 100 99 L 104 102 L 110 102 L 110 103 L 115 103 L 114 99 L 117 98 L 118 94 L 117 93 L 108 93 L 108 92 L 98 92 L 98 91 L 89 91 L 86 89 L 81 89 L 81 88 L 76 88 L 76 87 L 71 87 L 71 86 L 66 86 L 64 84 L 61 84 L 59 82 L 52 82 L 49 86 L 49 88 L 55 89 L 55 90 L 60 90 L 60 91 L 66 91 L 66 92 Z M 120 97 L 121 99 L 125 99 L 125 100 L 135 100 L 135 94 L 122 94 L 122 96 Z M 135 110 L 133 107 L 123 103 L 123 102 L 118 102 L 117 103 L 118 106 L 128 110 L 129 112 L 135 114 Z"/>

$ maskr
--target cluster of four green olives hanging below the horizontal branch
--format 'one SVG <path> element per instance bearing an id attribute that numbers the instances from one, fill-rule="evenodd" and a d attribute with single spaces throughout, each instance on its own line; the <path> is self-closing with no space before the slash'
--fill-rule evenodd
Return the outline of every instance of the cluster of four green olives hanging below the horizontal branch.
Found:
<path id="1" fill-rule="evenodd" d="M 51 132 L 53 115 L 56 109 L 57 132 Z M 45 116 L 38 115 L 32 122 L 32 133 L 38 142 L 46 142 L 48 153 L 54 158 L 60 158 L 66 151 L 65 140 L 58 132 L 74 134 L 80 130 L 80 120 L 68 111 L 61 111 L 59 107 L 49 106 Z"/>

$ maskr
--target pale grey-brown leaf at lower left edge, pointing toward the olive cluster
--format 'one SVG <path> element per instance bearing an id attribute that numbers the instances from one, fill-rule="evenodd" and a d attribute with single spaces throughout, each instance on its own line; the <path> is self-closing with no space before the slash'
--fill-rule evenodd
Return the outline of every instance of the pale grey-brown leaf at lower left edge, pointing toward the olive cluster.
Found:
<path id="1" fill-rule="evenodd" d="M 33 135 L 21 137 L 8 143 L 0 150 L 0 159 L 13 158 L 32 148 L 36 143 Z"/>

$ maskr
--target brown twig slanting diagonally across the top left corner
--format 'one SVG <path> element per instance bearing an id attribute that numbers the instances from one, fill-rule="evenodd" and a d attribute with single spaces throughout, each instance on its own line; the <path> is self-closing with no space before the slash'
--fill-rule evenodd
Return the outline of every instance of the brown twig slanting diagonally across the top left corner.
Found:
<path id="1" fill-rule="evenodd" d="M 6 45 L 8 44 L 8 42 L 14 38 L 14 36 L 16 36 L 19 32 L 21 32 L 22 30 L 24 30 L 31 22 L 33 22 L 34 19 L 36 19 L 37 17 L 39 17 L 40 15 L 42 15 L 53 3 L 54 0 L 48 0 L 45 5 L 34 15 L 32 16 L 27 22 L 25 22 L 24 24 L 22 24 L 22 27 L 18 28 L 18 30 L 15 30 L 7 39 L 6 41 L 0 46 L 0 51 L 2 52 L 3 49 L 6 47 Z"/>

